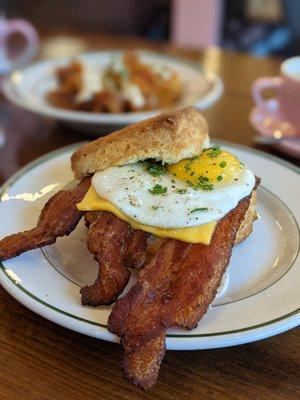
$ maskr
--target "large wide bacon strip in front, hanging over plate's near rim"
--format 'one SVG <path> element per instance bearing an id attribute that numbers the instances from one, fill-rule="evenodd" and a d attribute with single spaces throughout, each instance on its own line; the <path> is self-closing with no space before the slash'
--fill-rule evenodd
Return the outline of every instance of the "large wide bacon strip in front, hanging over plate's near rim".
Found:
<path id="1" fill-rule="evenodd" d="M 150 388 L 165 354 L 167 328 L 194 328 L 213 301 L 229 264 L 250 196 L 217 224 L 210 245 L 167 240 L 115 304 L 108 328 L 121 338 L 123 370 L 134 385 Z"/>

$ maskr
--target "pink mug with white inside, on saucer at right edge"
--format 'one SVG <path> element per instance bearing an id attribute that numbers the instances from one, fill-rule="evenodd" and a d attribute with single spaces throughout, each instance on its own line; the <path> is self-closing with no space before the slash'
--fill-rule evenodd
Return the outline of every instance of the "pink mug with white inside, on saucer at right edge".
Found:
<path id="1" fill-rule="evenodd" d="M 252 86 L 252 97 L 263 111 L 274 114 L 262 96 L 265 89 L 274 89 L 280 108 L 280 114 L 300 128 L 300 56 L 287 59 L 281 64 L 280 76 L 257 79 Z M 278 117 L 278 114 L 274 114 Z"/>

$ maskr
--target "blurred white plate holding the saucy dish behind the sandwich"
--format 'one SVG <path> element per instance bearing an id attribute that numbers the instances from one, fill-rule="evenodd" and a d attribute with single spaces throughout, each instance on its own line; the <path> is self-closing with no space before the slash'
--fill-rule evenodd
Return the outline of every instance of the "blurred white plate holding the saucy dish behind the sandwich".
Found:
<path id="1" fill-rule="evenodd" d="M 82 54 L 76 58 L 104 68 L 111 57 L 118 53 L 120 51 L 103 51 Z M 146 51 L 140 51 L 139 57 L 156 66 L 168 65 L 181 74 L 184 81 L 184 96 L 175 108 L 194 105 L 204 109 L 214 104 L 223 92 L 221 78 L 213 72 L 202 70 L 197 64 Z M 45 95 L 56 86 L 54 70 L 69 62 L 69 58 L 62 58 L 18 69 L 4 80 L 3 93 L 8 100 L 26 110 L 52 117 L 89 133 L 104 132 L 108 126 L 120 127 L 132 124 L 162 111 L 108 114 L 64 110 L 51 106 L 46 101 Z"/>

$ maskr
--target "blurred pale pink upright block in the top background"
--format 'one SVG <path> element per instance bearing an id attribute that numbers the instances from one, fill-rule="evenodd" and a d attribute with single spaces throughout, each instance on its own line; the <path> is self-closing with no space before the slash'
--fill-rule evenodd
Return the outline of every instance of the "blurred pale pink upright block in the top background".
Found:
<path id="1" fill-rule="evenodd" d="M 173 0 L 171 39 L 189 47 L 219 44 L 223 0 Z"/>

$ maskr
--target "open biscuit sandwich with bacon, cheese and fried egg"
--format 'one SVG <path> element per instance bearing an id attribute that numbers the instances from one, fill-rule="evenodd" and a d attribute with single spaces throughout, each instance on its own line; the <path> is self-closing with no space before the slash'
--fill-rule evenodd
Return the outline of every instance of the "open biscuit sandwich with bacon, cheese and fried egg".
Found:
<path id="1" fill-rule="evenodd" d="M 108 329 L 121 338 L 123 371 L 150 388 L 166 330 L 193 329 L 214 300 L 232 248 L 252 231 L 259 178 L 209 143 L 194 108 L 139 122 L 79 148 L 78 180 L 56 193 L 30 231 L 0 241 L 0 260 L 68 235 L 81 217 L 99 263 L 83 305 L 115 302 Z M 123 294 L 130 269 L 139 277 Z"/>

